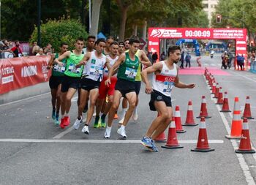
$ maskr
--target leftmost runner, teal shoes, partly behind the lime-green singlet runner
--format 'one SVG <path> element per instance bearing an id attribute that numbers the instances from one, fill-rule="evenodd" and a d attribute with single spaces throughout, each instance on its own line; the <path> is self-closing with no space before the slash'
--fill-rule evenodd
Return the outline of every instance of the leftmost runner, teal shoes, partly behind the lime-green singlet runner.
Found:
<path id="1" fill-rule="evenodd" d="M 48 63 L 48 69 L 52 69 L 52 75 L 50 76 L 49 86 L 51 93 L 51 103 L 53 106 L 52 118 L 56 126 L 59 126 L 59 109 L 61 107 L 61 83 L 63 80 L 64 72 L 65 72 L 65 64 L 66 60 L 62 60 L 61 62 L 64 64 L 63 67 L 60 67 L 58 64 L 53 65 L 53 61 L 55 58 L 58 58 L 63 53 L 65 53 L 68 49 L 67 43 L 62 42 L 60 53 L 52 54 L 50 61 Z"/>

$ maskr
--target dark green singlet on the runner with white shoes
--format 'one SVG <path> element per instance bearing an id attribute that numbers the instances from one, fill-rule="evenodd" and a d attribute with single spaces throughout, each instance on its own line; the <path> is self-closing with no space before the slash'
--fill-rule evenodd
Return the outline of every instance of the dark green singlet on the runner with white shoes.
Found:
<path id="1" fill-rule="evenodd" d="M 138 56 L 135 56 L 135 61 L 132 61 L 131 58 L 129 58 L 129 53 L 125 53 L 125 59 L 124 62 L 119 66 L 117 78 L 134 82 L 139 64 L 140 61 Z"/>

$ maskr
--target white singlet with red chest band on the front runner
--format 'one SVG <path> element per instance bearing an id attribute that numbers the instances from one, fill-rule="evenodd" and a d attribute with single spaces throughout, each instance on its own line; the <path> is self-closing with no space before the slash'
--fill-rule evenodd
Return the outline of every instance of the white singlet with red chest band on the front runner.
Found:
<path id="1" fill-rule="evenodd" d="M 157 75 L 153 74 L 152 86 L 154 90 L 170 97 L 178 74 L 177 67 L 176 64 L 173 64 L 173 69 L 169 69 L 165 64 L 165 61 L 160 62 L 162 63 L 162 71 Z"/>

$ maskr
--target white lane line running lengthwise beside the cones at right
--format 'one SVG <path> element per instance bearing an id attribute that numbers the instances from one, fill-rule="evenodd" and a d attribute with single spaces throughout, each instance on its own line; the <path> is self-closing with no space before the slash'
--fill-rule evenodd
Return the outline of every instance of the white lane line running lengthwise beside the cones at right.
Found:
<path id="1" fill-rule="evenodd" d="M 214 103 L 216 102 L 216 100 L 213 99 L 212 96 L 211 96 L 211 100 Z M 227 123 L 227 119 L 226 119 L 224 113 L 220 112 L 220 110 L 222 110 L 221 107 L 219 105 L 216 105 L 216 107 L 217 107 L 220 117 L 222 118 L 225 129 L 227 130 L 227 134 L 230 134 L 230 126 Z M 230 113 L 230 115 L 231 115 L 231 113 Z M 234 150 L 238 149 L 238 143 L 236 140 L 230 140 L 230 142 L 232 143 Z M 235 151 L 234 151 L 234 153 L 235 153 Z M 238 158 L 239 165 L 240 165 L 241 169 L 243 170 L 247 184 L 255 184 L 255 180 L 254 180 L 254 178 L 252 178 L 252 174 L 249 170 L 249 166 L 247 165 L 247 163 L 244 159 L 243 154 L 236 154 L 236 157 Z M 256 159 L 256 155 L 253 155 L 253 157 Z"/>

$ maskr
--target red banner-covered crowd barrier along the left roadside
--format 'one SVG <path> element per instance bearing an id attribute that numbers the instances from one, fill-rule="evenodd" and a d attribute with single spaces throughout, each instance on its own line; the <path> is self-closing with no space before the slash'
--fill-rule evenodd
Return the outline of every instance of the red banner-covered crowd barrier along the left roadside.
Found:
<path id="1" fill-rule="evenodd" d="M 50 56 L 0 59 L 0 94 L 47 82 L 51 74 L 47 69 L 49 60 Z"/>

